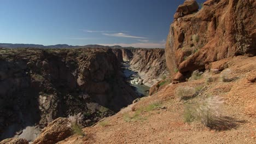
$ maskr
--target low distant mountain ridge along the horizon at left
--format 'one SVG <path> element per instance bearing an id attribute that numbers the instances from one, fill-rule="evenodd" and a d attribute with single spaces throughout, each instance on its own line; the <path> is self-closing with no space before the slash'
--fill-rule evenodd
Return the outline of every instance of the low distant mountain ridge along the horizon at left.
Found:
<path id="1" fill-rule="evenodd" d="M 110 49 L 134 49 L 134 47 L 122 47 L 120 45 L 114 45 L 114 46 L 103 46 L 103 45 L 84 45 L 84 46 L 73 46 L 73 45 L 67 45 L 67 44 L 58 44 L 58 45 L 37 45 L 37 44 L 10 44 L 10 43 L 0 43 L 0 48 L 9 48 L 9 49 L 15 49 L 15 48 L 40 48 L 40 49 L 61 49 L 61 48 L 95 48 L 95 49 L 104 49 L 104 48 L 110 48 Z"/>

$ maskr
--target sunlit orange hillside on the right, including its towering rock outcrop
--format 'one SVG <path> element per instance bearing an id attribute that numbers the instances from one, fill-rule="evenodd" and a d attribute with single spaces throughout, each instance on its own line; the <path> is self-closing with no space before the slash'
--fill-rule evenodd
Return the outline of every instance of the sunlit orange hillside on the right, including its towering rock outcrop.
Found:
<path id="1" fill-rule="evenodd" d="M 171 77 L 184 82 L 163 85 L 153 95 L 84 128 L 86 136 L 72 135 L 59 143 L 255 143 L 255 4 L 208 0 L 197 11 L 195 1 L 185 1 L 174 15 L 165 51 Z M 204 73 L 185 81 L 197 69 Z M 223 81 L 223 75 L 228 80 Z M 182 100 L 176 88 L 186 86 L 199 90 Z M 211 119 L 207 127 L 200 121 L 184 121 L 188 106 L 212 96 L 224 101 L 218 119 Z"/>

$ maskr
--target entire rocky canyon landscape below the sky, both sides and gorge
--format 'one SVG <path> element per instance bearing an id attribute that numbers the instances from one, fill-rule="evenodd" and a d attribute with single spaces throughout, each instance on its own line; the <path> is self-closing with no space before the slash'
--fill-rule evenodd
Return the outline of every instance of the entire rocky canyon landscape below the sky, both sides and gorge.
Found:
<path id="1" fill-rule="evenodd" d="M 255 11 L 252 0 L 186 0 L 165 49 L 0 49 L 0 144 L 255 143 Z M 217 119 L 186 121 L 212 97 Z"/>

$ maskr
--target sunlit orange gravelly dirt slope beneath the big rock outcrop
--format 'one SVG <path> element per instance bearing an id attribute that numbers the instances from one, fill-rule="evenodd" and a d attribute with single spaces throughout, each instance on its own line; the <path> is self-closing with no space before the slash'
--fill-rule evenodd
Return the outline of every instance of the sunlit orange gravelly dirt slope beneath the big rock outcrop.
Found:
<path id="1" fill-rule="evenodd" d="M 212 63 L 212 67 L 230 69 L 230 82 L 222 82 L 220 74 L 213 74 L 213 82 L 205 78 L 170 84 L 160 92 L 129 105 L 116 115 L 84 129 L 85 137 L 73 135 L 59 143 L 255 143 L 256 142 L 256 57 L 238 56 Z M 226 70 L 226 69 L 224 69 Z M 254 81 L 254 82 L 253 82 Z M 193 99 L 179 101 L 174 96 L 178 86 L 205 86 Z M 207 95 L 224 99 L 222 121 L 212 129 L 200 122 L 184 123 L 185 104 L 200 101 Z M 156 102 L 157 103 L 156 103 Z M 143 106 L 158 104 L 156 109 Z"/>

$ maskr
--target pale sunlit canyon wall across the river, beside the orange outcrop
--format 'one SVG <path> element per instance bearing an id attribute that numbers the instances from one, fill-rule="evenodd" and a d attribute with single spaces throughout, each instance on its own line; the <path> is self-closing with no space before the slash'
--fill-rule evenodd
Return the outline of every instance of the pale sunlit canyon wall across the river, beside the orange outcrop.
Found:
<path id="1" fill-rule="evenodd" d="M 164 49 L 135 49 L 132 53 L 131 69 L 138 72 L 144 85 L 151 87 L 168 74 Z"/>

